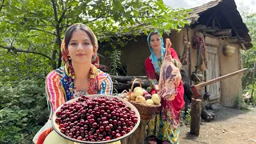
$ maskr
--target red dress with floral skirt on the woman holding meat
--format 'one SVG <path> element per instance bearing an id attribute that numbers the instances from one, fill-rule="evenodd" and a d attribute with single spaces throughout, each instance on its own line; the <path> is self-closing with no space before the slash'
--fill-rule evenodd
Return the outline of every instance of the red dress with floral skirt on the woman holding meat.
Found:
<path id="1" fill-rule="evenodd" d="M 177 66 L 179 69 L 181 69 L 182 65 L 178 60 L 178 55 L 176 54 L 175 50 L 170 48 L 170 54 L 172 58 L 174 58 L 174 66 Z M 162 65 L 161 58 L 158 59 L 158 64 L 161 67 Z M 146 58 L 145 66 L 146 66 L 146 75 L 150 80 L 151 86 L 154 87 L 154 85 L 158 84 L 160 74 L 154 70 L 154 66 L 150 58 Z M 182 82 L 177 87 L 177 91 L 178 91 L 178 94 L 172 101 L 172 107 L 168 106 L 166 102 L 162 100 L 161 112 L 159 112 L 159 114 L 155 114 L 154 118 L 150 119 L 150 121 L 147 123 L 148 137 L 155 137 L 155 138 L 158 138 L 158 140 L 161 140 L 162 142 L 168 142 L 171 144 L 178 143 L 179 123 L 176 121 L 174 122 L 171 109 L 174 109 L 175 112 L 178 113 L 176 117 L 178 117 L 178 121 L 179 121 L 180 111 L 182 109 L 182 106 L 184 105 L 184 100 L 183 100 L 184 88 L 183 88 Z M 154 89 L 152 89 L 151 92 L 154 92 Z"/>

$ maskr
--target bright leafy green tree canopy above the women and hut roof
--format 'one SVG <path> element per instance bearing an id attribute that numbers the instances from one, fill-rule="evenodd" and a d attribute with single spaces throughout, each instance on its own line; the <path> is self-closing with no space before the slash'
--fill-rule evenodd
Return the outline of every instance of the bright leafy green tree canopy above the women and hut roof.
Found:
<path id="1" fill-rule="evenodd" d="M 10 0 L 0 12 L 0 57 L 18 53 L 37 54 L 54 70 L 61 66 L 60 45 L 73 23 L 90 26 L 100 42 L 124 46 L 126 36 L 158 29 L 178 30 L 187 23 L 187 10 L 173 10 L 162 0 Z M 124 37 L 123 37 L 124 36 Z M 30 55 L 23 60 L 27 61 Z M 21 60 L 18 59 L 18 62 Z M 34 64 L 34 63 L 33 63 Z"/>

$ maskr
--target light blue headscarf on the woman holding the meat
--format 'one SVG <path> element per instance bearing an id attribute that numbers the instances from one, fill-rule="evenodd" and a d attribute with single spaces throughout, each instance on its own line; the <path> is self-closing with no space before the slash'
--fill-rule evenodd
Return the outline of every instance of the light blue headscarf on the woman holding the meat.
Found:
<path id="1" fill-rule="evenodd" d="M 160 35 L 160 34 L 158 33 L 158 31 L 151 32 L 151 33 L 148 35 L 148 37 L 147 37 L 147 44 L 148 44 L 149 46 L 150 46 L 150 36 L 152 36 L 151 34 L 158 34 L 158 35 Z M 161 49 L 161 59 L 163 59 L 163 55 L 165 54 L 166 49 L 164 48 L 163 38 L 162 38 L 161 36 L 160 36 L 160 38 L 161 38 L 161 41 L 162 41 L 162 45 L 161 45 L 161 47 L 162 47 L 162 49 Z M 155 70 L 155 72 L 157 72 L 157 73 L 159 74 L 161 68 L 160 68 L 160 66 L 159 66 L 159 64 L 158 64 L 158 58 L 155 56 L 154 51 L 152 50 L 152 47 L 151 47 L 151 46 L 150 46 L 150 52 L 151 52 L 151 54 L 150 54 L 150 59 L 151 59 L 152 64 L 153 64 L 153 66 L 154 66 L 154 70 Z"/>

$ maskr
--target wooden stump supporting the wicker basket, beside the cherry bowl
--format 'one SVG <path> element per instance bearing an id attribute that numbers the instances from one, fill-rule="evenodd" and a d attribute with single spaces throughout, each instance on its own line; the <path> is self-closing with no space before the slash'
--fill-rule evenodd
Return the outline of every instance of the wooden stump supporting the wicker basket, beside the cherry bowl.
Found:
<path id="1" fill-rule="evenodd" d="M 123 138 L 121 140 L 122 144 L 144 144 L 144 140 L 146 138 L 146 122 L 148 120 L 141 119 L 141 122 L 137 128 L 137 130 L 134 131 L 133 134 L 130 134 L 128 137 Z"/>

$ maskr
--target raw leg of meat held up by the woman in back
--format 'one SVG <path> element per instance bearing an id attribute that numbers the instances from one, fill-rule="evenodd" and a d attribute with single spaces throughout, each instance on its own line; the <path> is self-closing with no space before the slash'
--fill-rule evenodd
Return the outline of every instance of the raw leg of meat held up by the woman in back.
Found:
<path id="1" fill-rule="evenodd" d="M 168 48 L 171 46 L 169 38 L 166 38 L 166 54 L 162 62 L 160 78 L 158 82 L 159 90 L 158 95 L 166 101 L 174 100 L 177 95 L 176 87 L 182 81 L 180 70 L 174 66 L 170 60 L 166 60 L 166 56 L 170 55 Z"/>

